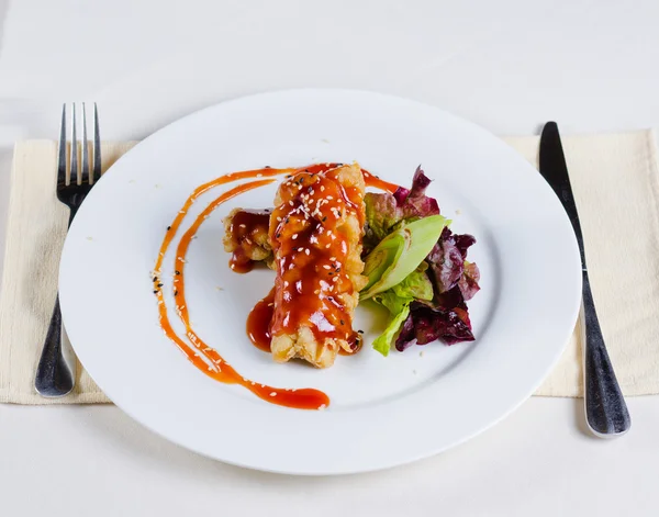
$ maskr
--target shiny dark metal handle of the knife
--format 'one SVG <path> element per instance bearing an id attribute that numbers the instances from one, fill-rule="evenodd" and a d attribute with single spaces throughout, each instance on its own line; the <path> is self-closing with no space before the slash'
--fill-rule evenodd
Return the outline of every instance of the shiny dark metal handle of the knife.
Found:
<path id="1" fill-rule="evenodd" d="M 583 271 L 583 303 L 581 310 L 585 419 L 595 436 L 615 438 L 629 430 L 632 420 L 625 397 L 606 352 L 588 271 L 585 270 Z"/>

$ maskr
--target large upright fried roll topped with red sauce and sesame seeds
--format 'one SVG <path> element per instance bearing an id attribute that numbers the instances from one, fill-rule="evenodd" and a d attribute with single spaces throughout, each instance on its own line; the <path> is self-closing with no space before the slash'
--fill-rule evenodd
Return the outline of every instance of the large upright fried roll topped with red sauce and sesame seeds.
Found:
<path id="1" fill-rule="evenodd" d="M 303 359 L 317 368 L 351 352 L 359 336 L 353 313 L 361 274 L 364 176 L 359 165 L 310 167 L 280 187 L 270 217 L 275 252 L 271 352 L 278 362 Z"/>

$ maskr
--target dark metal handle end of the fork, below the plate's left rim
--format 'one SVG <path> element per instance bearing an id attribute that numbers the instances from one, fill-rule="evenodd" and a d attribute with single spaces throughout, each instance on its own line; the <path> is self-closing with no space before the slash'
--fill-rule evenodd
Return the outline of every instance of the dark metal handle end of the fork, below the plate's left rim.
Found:
<path id="1" fill-rule="evenodd" d="M 62 331 L 58 294 L 34 379 L 34 387 L 42 396 L 64 396 L 74 389 L 74 371 L 67 364 L 62 350 Z"/>

